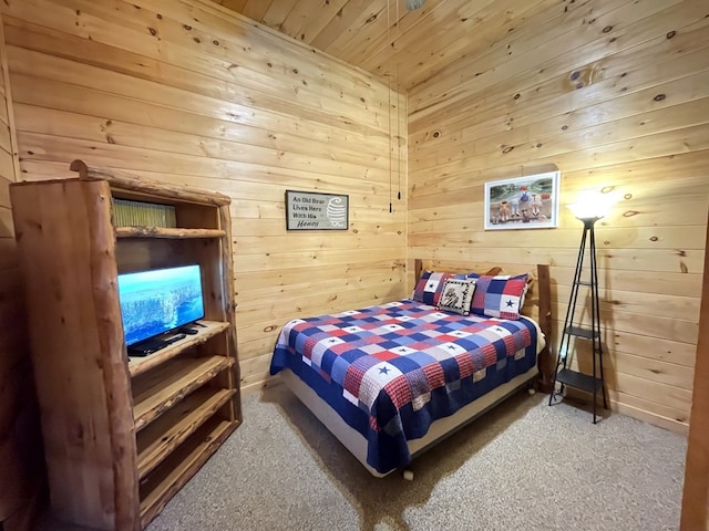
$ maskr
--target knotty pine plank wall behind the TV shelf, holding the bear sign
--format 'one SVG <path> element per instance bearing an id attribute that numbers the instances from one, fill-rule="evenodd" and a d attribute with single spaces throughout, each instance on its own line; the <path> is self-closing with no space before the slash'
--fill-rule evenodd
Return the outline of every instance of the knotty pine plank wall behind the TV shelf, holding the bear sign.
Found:
<path id="1" fill-rule="evenodd" d="M 82 158 L 233 198 L 243 388 L 290 319 L 402 296 L 389 86 L 213 2 L 3 3 L 22 179 Z M 286 189 L 349 195 L 349 230 L 287 232 Z"/>

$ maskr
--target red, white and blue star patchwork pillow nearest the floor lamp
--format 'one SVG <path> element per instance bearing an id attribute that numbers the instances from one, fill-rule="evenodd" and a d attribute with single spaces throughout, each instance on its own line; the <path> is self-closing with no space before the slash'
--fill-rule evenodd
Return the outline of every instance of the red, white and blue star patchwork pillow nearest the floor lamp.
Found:
<path id="1" fill-rule="evenodd" d="M 527 289 L 527 274 L 486 274 L 477 279 L 471 312 L 500 319 L 520 319 Z"/>

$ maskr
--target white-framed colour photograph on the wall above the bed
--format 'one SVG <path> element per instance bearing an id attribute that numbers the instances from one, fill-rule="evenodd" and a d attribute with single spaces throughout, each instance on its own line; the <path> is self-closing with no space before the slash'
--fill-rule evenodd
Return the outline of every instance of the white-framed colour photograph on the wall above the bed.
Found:
<path id="1" fill-rule="evenodd" d="M 485 183 L 485 230 L 558 227 L 559 171 Z"/>

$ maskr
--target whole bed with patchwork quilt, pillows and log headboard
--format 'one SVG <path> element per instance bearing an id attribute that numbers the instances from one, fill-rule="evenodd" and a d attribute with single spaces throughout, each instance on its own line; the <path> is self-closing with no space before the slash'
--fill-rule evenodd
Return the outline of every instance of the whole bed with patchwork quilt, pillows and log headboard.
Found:
<path id="1" fill-rule="evenodd" d="M 548 266 L 414 269 L 410 299 L 290 321 L 271 357 L 270 373 L 377 477 L 520 388 L 549 387 Z"/>

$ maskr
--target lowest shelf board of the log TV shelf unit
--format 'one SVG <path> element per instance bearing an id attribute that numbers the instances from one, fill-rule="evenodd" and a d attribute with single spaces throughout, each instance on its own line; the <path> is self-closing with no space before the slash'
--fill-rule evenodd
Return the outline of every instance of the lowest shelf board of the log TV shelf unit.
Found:
<path id="1" fill-rule="evenodd" d="M 141 481 L 141 522 L 145 528 L 236 429 L 235 421 L 212 418 Z"/>

